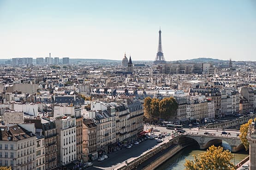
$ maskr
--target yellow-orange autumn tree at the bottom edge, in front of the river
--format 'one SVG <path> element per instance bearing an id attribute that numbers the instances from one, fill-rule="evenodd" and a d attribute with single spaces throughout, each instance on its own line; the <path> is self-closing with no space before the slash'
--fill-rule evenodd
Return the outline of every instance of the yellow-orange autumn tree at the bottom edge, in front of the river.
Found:
<path id="1" fill-rule="evenodd" d="M 185 170 L 235 170 L 235 165 L 230 161 L 232 153 L 220 146 L 212 145 L 206 152 L 193 157 L 194 161 L 186 160 Z"/>

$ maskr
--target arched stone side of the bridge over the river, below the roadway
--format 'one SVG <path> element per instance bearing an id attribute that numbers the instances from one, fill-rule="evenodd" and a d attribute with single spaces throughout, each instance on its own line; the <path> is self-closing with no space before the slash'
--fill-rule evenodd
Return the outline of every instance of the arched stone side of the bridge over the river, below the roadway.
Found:
<path id="1" fill-rule="evenodd" d="M 221 144 L 222 141 L 225 141 L 230 145 L 231 152 L 238 152 L 239 150 L 244 148 L 244 145 L 240 141 L 239 137 L 232 137 L 232 136 L 185 134 L 180 136 L 179 143 L 184 143 L 185 141 L 189 141 L 188 138 L 196 141 L 199 144 L 200 149 L 206 149 L 211 145 L 216 146 L 218 144 Z"/>

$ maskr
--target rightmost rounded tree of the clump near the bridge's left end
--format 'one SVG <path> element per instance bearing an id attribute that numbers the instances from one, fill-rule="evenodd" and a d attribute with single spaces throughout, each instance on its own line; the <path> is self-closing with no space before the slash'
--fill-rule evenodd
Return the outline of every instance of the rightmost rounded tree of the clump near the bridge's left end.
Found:
<path id="1" fill-rule="evenodd" d="M 174 97 L 164 98 L 159 102 L 160 116 L 163 119 L 170 119 L 177 115 L 178 103 Z"/>

